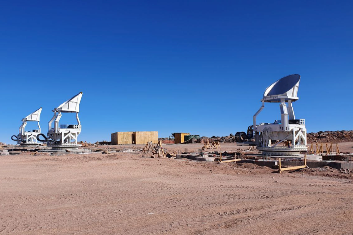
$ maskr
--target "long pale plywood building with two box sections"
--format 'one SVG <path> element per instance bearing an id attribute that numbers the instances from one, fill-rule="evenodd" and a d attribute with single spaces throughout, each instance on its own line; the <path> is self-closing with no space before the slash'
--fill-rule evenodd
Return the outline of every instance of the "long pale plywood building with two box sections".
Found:
<path id="1" fill-rule="evenodd" d="M 158 131 L 125 131 L 112 133 L 112 144 L 158 143 Z"/>

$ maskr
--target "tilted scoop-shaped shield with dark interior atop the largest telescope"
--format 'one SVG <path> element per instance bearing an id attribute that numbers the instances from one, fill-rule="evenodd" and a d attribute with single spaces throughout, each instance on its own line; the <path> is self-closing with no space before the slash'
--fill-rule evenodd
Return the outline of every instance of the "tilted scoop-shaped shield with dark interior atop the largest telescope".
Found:
<path id="1" fill-rule="evenodd" d="M 285 99 L 285 101 L 296 101 L 299 99 L 299 82 L 299 74 L 292 74 L 281 78 L 266 88 L 261 101 L 274 103 L 281 102 L 281 99 Z"/>

